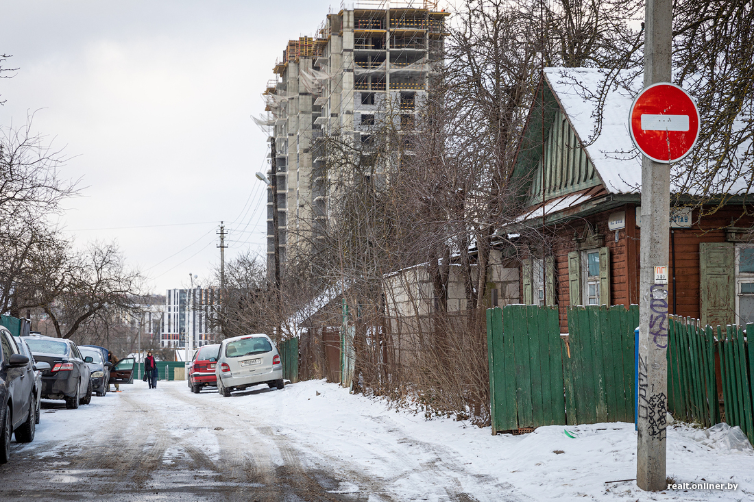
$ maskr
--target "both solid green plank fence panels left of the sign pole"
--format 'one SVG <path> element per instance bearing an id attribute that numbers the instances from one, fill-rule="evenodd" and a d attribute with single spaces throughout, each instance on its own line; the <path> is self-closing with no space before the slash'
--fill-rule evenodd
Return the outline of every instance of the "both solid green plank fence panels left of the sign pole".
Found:
<path id="1" fill-rule="evenodd" d="M 487 311 L 492 431 L 633 421 L 636 305 Z"/>

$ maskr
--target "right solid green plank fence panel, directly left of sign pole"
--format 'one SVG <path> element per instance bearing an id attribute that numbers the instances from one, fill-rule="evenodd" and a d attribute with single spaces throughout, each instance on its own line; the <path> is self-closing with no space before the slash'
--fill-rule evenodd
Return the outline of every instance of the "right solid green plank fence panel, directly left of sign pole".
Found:
<path id="1" fill-rule="evenodd" d="M 568 424 L 633 421 L 634 330 L 639 306 L 569 307 L 563 360 Z"/>

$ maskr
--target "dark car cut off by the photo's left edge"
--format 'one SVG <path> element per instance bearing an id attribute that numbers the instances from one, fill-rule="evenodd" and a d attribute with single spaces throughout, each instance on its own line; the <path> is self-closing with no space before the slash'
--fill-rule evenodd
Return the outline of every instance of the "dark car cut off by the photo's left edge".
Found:
<path id="1" fill-rule="evenodd" d="M 34 372 L 5 326 L 0 326 L 0 464 L 11 457 L 11 436 L 32 442 L 36 430 Z"/>

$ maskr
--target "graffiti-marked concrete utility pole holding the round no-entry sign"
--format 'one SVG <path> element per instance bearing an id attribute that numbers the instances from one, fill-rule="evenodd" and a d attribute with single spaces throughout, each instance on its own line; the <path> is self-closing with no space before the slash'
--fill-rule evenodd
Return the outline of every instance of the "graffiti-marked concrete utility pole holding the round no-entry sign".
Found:
<path id="1" fill-rule="evenodd" d="M 647 0 L 644 87 L 657 82 L 670 82 L 672 21 L 672 0 Z M 666 488 L 667 280 L 664 284 L 661 280 L 656 281 L 654 267 L 667 267 L 669 231 L 670 164 L 661 164 L 644 157 L 636 485 L 651 491 Z"/>

